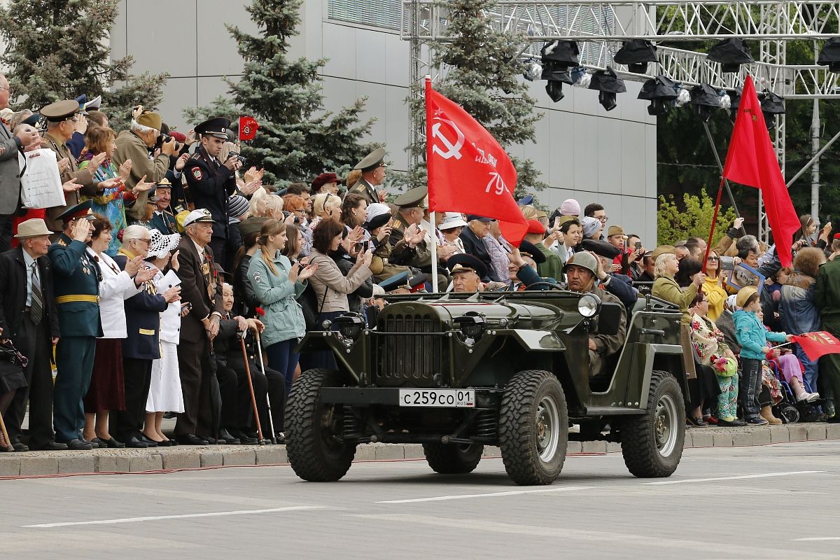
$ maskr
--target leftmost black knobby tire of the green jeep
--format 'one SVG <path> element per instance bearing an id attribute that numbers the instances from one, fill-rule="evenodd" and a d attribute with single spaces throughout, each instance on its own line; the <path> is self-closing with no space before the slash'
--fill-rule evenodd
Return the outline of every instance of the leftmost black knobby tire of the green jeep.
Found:
<path id="1" fill-rule="evenodd" d="M 344 410 L 319 401 L 322 387 L 344 385 L 336 371 L 309 369 L 291 386 L 286 403 L 286 452 L 295 474 L 311 482 L 333 482 L 347 474 L 354 442 L 339 439 Z"/>

